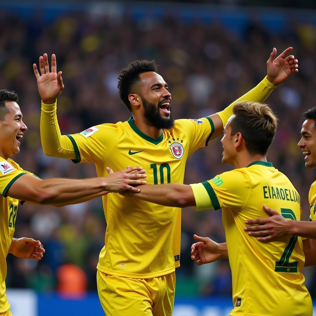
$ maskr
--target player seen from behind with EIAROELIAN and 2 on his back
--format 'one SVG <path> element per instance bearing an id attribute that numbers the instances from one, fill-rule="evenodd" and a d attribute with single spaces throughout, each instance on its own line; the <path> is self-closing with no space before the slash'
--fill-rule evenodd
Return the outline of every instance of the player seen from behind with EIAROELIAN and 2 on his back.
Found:
<path id="1" fill-rule="evenodd" d="M 312 300 L 301 273 L 301 237 L 260 243 L 244 230 L 245 219 L 264 215 L 266 201 L 286 218 L 301 218 L 295 187 L 266 160 L 277 119 L 269 106 L 256 102 L 239 102 L 233 111 L 221 143 L 222 161 L 236 169 L 203 183 L 145 185 L 139 193 L 126 195 L 161 205 L 222 209 L 227 244 L 217 258 L 224 257 L 226 250 L 233 279 L 230 315 L 311 316 Z M 205 258 L 211 250 L 200 242 L 192 245 L 191 253 L 201 264 L 217 259 L 214 254 L 213 260 Z"/>

